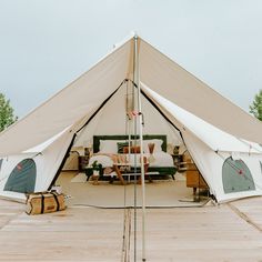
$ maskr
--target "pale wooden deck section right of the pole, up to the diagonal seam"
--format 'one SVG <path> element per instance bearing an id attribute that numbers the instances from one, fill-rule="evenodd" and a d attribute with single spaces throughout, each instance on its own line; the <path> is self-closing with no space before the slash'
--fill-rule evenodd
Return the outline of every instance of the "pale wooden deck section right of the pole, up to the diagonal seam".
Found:
<path id="1" fill-rule="evenodd" d="M 148 261 L 262 261 L 262 235 L 226 204 L 149 210 L 147 253 Z"/>

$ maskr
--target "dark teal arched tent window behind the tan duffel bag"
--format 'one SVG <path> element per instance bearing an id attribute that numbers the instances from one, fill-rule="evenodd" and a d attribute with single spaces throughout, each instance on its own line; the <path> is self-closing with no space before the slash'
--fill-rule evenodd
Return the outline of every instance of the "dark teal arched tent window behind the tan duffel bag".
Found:
<path id="1" fill-rule="evenodd" d="M 32 159 L 24 159 L 19 162 L 9 175 L 4 191 L 19 193 L 34 192 L 37 165 Z"/>

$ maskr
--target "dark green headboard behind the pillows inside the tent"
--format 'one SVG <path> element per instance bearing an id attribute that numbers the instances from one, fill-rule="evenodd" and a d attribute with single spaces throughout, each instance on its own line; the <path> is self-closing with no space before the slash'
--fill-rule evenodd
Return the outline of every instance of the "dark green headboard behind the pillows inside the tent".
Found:
<path id="1" fill-rule="evenodd" d="M 100 140 L 128 140 L 125 134 L 115 134 L 115 135 L 93 135 L 93 152 L 98 153 L 100 148 Z M 139 135 L 131 135 L 131 140 L 138 139 Z M 160 139 L 163 141 L 162 150 L 167 152 L 167 135 L 165 134 L 144 134 L 143 140 Z"/>

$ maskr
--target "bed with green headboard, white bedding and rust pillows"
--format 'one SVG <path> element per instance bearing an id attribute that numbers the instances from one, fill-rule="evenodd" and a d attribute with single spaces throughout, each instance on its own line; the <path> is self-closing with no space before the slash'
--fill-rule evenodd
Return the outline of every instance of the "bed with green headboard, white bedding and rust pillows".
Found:
<path id="1" fill-rule="evenodd" d="M 102 165 L 103 173 L 107 173 L 107 168 L 112 168 L 115 163 L 115 157 L 118 163 L 128 162 L 133 167 L 140 165 L 140 152 L 132 152 L 132 148 L 139 147 L 139 141 L 134 140 L 135 137 L 131 137 L 131 150 L 130 143 L 128 143 L 128 135 L 94 135 L 93 137 L 93 155 L 90 158 L 89 165 L 92 167 L 94 161 L 98 161 Z M 132 153 L 122 154 L 123 152 L 119 151 L 119 144 L 125 143 L 125 149 L 130 150 Z M 152 149 L 153 153 L 150 154 L 149 149 Z M 177 168 L 173 163 L 173 158 L 167 153 L 167 135 L 165 134 L 145 134 L 143 135 L 143 155 L 147 157 L 149 162 L 148 172 L 155 173 L 160 175 L 172 175 L 177 172 Z M 139 147 L 140 150 L 140 147 Z M 124 155 L 124 157 L 123 157 Z M 130 159 L 129 159 L 130 155 Z M 110 170 L 110 169 L 108 169 Z"/>

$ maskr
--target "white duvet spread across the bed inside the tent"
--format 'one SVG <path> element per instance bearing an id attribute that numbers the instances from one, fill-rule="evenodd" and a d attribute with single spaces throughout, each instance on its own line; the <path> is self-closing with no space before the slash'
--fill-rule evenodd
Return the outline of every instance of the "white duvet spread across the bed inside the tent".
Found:
<path id="1" fill-rule="evenodd" d="M 127 154 L 127 158 L 129 155 Z M 144 153 L 144 157 L 148 158 L 148 160 L 150 159 L 150 154 L 149 153 Z M 153 161 L 149 161 L 150 162 L 150 167 L 173 167 L 173 159 L 169 153 L 165 153 L 163 151 L 161 152 L 155 152 L 153 154 Z M 92 163 L 94 161 L 98 161 L 99 163 L 102 164 L 103 168 L 108 168 L 108 167 L 112 167 L 113 165 L 113 161 L 109 155 L 103 155 L 103 154 L 94 154 L 90 158 L 89 161 L 89 165 L 92 165 Z M 140 154 L 137 154 L 137 161 L 139 164 L 140 160 Z M 128 161 L 131 165 L 134 165 L 134 161 L 135 161 L 135 154 L 130 154 L 130 160 Z"/>

